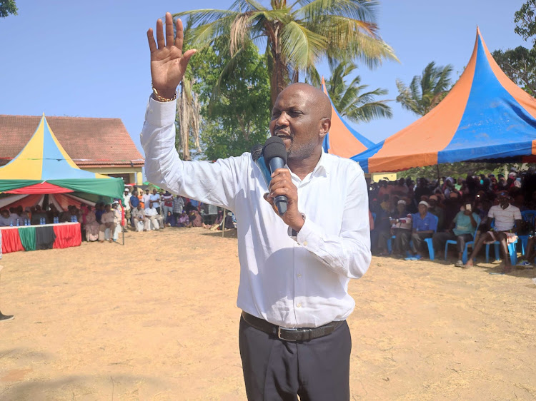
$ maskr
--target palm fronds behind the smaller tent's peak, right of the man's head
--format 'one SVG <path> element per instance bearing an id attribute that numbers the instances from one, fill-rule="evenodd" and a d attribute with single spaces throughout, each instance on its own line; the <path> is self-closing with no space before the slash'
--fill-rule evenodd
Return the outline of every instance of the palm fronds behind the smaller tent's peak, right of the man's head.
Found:
<path id="1" fill-rule="evenodd" d="M 349 61 L 332 66 L 332 76 L 326 83 L 327 93 L 341 116 L 356 123 L 369 122 L 374 118 L 392 118 L 387 100 L 376 101 L 377 96 L 387 95 L 387 89 L 377 88 L 363 92 L 368 85 L 361 85 L 361 77 L 356 76 L 349 85 L 345 78 L 357 68 Z"/>

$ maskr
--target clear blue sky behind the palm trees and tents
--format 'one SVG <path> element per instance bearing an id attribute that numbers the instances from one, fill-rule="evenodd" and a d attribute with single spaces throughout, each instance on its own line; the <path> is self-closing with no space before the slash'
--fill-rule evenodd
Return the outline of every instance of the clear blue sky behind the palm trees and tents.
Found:
<path id="1" fill-rule="evenodd" d="M 430 61 L 452 64 L 458 76 L 470 58 L 476 26 L 488 48 L 527 44 L 514 33 L 514 13 L 525 0 L 384 0 L 382 38 L 400 63 L 357 73 L 370 88 L 397 96 Z M 262 1 L 266 4 L 267 1 Z M 227 9 L 232 0 L 16 1 L 18 16 L 0 19 L 0 113 L 121 118 L 134 143 L 151 93 L 146 31 L 165 11 Z M 323 64 L 319 71 L 329 76 Z M 373 142 L 417 119 L 391 102 L 393 118 L 354 125 Z M 1 133 L 0 133 L 1 135 Z M 110 138 L 113 141 L 114 138 Z"/>

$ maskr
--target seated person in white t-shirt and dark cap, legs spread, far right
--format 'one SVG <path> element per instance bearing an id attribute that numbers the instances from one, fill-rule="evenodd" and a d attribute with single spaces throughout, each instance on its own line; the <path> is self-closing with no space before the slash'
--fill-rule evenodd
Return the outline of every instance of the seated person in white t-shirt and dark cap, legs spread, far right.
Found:
<path id="1" fill-rule="evenodd" d="M 512 270 L 508 244 L 517 240 L 517 229 L 521 227 L 521 211 L 514 205 L 510 205 L 510 196 L 507 192 L 503 191 L 499 193 L 497 199 L 499 200 L 499 204 L 492 206 L 490 211 L 487 212 L 488 231 L 478 238 L 475 248 L 473 248 L 471 256 L 467 260 L 464 268 L 472 267 L 472 260 L 478 254 L 482 245 L 499 241 L 502 257 L 504 258 L 502 273 L 509 273 Z M 492 219 L 495 219 L 495 228 L 491 228 Z"/>

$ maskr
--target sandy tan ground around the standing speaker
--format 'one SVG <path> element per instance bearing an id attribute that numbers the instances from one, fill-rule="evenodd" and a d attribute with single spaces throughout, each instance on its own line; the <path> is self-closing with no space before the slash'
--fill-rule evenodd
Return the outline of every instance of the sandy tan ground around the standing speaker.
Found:
<path id="1" fill-rule="evenodd" d="M 0 400 L 245 400 L 236 238 L 202 228 L 4 255 Z M 352 400 L 535 400 L 535 270 L 374 258 Z"/>

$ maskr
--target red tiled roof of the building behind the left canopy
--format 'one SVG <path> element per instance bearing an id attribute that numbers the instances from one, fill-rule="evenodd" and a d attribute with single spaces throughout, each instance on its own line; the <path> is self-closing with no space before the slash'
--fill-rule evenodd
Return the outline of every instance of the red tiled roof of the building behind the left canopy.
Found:
<path id="1" fill-rule="evenodd" d="M 19 154 L 41 116 L 0 114 L 0 166 Z M 119 118 L 46 116 L 61 146 L 80 168 L 144 165 L 144 158 Z"/>

